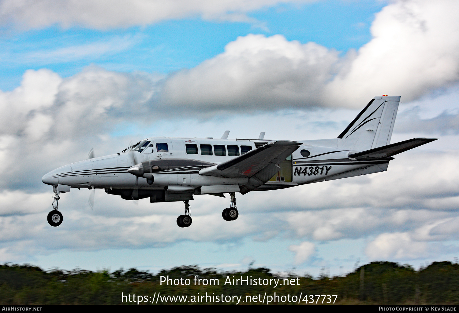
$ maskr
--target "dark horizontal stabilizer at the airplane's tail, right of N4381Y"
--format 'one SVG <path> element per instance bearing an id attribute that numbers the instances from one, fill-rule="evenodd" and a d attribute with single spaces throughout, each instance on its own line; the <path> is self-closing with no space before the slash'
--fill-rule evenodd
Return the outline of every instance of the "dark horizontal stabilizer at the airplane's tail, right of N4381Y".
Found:
<path id="1" fill-rule="evenodd" d="M 413 138 L 399 143 L 392 143 L 387 146 L 374 148 L 354 154 L 349 154 L 350 158 L 358 159 L 359 161 L 386 159 L 392 155 L 399 154 L 410 149 L 422 146 L 423 144 L 430 143 L 438 138 Z"/>

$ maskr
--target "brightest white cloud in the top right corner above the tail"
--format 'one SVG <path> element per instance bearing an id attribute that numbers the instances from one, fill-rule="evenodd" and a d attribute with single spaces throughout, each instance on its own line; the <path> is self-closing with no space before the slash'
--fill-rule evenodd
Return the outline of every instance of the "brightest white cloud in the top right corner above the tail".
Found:
<path id="1" fill-rule="evenodd" d="M 459 25 L 454 0 L 396 1 L 375 16 L 373 39 L 358 50 L 348 71 L 327 85 L 330 99 L 357 101 L 368 93 L 405 101 L 457 82 Z"/>

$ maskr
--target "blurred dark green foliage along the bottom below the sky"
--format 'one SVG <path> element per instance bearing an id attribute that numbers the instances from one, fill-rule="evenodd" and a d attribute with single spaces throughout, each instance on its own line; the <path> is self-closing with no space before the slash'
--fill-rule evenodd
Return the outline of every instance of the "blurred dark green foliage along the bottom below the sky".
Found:
<path id="1" fill-rule="evenodd" d="M 202 279 L 194 284 L 194 278 Z M 45 305 L 45 304 L 135 304 L 122 301 L 123 295 L 148 296 L 160 292 L 162 295 L 337 295 L 336 304 L 457 304 L 459 294 L 459 265 L 451 262 L 434 262 L 418 271 L 409 265 L 393 262 L 372 262 L 363 265 L 343 277 L 319 279 L 304 275 L 296 282 L 296 276 L 285 277 L 271 273 L 267 268 L 248 269 L 244 272 L 218 272 L 215 269 L 200 269 L 197 265 L 164 269 L 157 275 L 137 269 L 108 271 L 52 270 L 45 272 L 37 266 L 0 265 L 0 304 Z M 160 277 L 169 279 L 160 284 Z M 237 286 L 233 278 L 269 281 L 280 279 L 282 286 Z M 224 284 L 229 277 L 230 284 Z M 183 278 L 183 279 L 182 279 Z M 175 280 L 178 279 L 178 280 Z M 177 286 L 180 279 L 190 280 L 188 286 Z M 207 284 L 204 285 L 204 280 Z M 208 281 L 218 280 L 218 285 Z M 285 279 L 285 280 L 284 280 Z M 286 281 L 289 284 L 286 284 Z M 127 303 L 126 303 L 127 302 Z M 286 302 L 288 303 L 288 302 Z M 302 302 L 304 303 L 304 302 Z M 146 304 L 141 302 L 140 304 Z M 159 304 L 159 303 L 158 303 Z M 201 303 L 200 303 L 201 304 Z M 205 303 L 203 303 L 205 304 Z M 215 304 L 215 303 L 214 303 Z"/>

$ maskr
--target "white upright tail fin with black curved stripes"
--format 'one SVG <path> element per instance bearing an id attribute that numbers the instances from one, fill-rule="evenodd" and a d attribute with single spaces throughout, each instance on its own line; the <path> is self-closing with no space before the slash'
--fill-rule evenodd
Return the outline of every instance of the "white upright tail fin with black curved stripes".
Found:
<path id="1" fill-rule="evenodd" d="M 375 97 L 338 136 L 339 147 L 367 150 L 390 143 L 400 96 Z"/>

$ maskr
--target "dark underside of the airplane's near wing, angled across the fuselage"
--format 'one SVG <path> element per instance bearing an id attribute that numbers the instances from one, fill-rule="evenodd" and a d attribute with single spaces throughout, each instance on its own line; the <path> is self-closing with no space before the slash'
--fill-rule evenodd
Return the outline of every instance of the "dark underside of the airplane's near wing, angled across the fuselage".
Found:
<path id="1" fill-rule="evenodd" d="M 272 168 L 274 172 L 266 180 L 268 181 L 279 170 L 279 167 L 274 164 L 286 159 L 300 145 L 301 143 L 297 143 L 295 141 L 272 141 L 264 146 L 256 148 L 255 150 L 249 151 L 246 154 L 242 154 L 237 158 L 230 159 L 229 161 L 219 165 L 202 169 L 199 171 L 199 175 L 245 178 L 252 177 L 269 166 L 269 168 Z M 266 173 L 266 175 L 269 175 L 271 171 Z"/>

